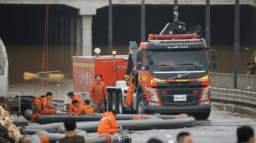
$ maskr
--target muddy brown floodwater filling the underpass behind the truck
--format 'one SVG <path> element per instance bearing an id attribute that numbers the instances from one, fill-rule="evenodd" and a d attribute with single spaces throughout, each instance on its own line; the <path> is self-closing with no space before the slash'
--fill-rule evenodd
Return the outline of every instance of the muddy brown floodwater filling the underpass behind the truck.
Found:
<path id="1" fill-rule="evenodd" d="M 113 46 L 117 55 L 126 55 L 127 46 Z M 107 55 L 107 46 L 100 47 L 102 55 Z M 211 72 L 233 73 L 234 70 L 234 46 L 212 46 L 217 50 L 218 68 Z M 256 50 L 255 47 L 240 46 L 240 73 L 243 73 L 246 65 Z M 23 80 L 23 72 L 42 72 L 43 46 L 6 46 L 9 61 L 9 92 L 20 92 L 21 95 L 38 96 L 43 94 L 42 80 Z M 78 50 L 75 47 L 51 46 L 48 51 L 48 71 L 61 70 L 64 73 L 62 80 L 49 80 L 45 83 L 44 94 L 50 91 L 53 99 L 64 100 L 64 93 L 72 91 L 72 59 Z M 46 58 L 45 58 L 46 62 Z M 45 63 L 46 70 L 46 63 Z"/>

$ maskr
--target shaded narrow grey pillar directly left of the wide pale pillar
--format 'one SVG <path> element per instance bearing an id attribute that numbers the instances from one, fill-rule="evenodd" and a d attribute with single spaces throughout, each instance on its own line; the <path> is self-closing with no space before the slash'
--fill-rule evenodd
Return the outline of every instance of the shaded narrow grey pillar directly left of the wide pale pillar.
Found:
<path id="1" fill-rule="evenodd" d="M 81 41 L 82 41 L 82 38 L 81 38 L 81 18 L 80 17 L 77 17 L 75 19 L 75 41 L 76 41 L 76 44 L 75 44 L 75 47 L 76 47 L 76 53 L 78 55 L 81 55 Z"/>

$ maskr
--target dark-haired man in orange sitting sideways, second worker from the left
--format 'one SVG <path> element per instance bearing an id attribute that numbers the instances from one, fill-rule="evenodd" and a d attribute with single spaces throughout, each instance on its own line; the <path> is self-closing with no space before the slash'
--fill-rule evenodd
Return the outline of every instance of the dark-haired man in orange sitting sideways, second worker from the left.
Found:
<path id="1" fill-rule="evenodd" d="M 45 98 L 43 98 L 39 105 L 38 105 L 38 111 L 42 115 L 55 115 L 57 107 L 52 106 L 51 100 L 52 99 L 52 93 L 47 92 L 45 94 Z"/>

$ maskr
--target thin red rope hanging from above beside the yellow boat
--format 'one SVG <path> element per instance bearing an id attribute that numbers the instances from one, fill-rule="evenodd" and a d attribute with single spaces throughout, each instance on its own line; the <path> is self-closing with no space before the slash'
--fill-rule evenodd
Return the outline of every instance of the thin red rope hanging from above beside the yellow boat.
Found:
<path id="1" fill-rule="evenodd" d="M 47 6 L 46 6 L 46 16 L 45 16 L 45 33 L 44 33 L 44 51 L 43 51 L 43 60 L 42 60 L 42 91 L 44 94 L 44 60 L 45 60 L 45 45 L 46 45 L 46 72 L 48 71 L 48 23 L 49 23 L 49 0 L 47 0 Z M 46 78 L 46 88 L 47 88 L 47 78 Z"/>

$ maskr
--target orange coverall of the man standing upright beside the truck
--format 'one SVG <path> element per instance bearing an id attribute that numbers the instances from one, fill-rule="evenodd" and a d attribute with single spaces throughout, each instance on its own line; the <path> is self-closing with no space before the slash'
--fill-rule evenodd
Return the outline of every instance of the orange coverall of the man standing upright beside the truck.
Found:
<path id="1" fill-rule="evenodd" d="M 94 81 L 90 86 L 90 98 L 93 98 L 94 104 L 104 104 L 104 95 L 107 97 L 107 88 L 105 83 Z"/>

